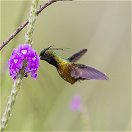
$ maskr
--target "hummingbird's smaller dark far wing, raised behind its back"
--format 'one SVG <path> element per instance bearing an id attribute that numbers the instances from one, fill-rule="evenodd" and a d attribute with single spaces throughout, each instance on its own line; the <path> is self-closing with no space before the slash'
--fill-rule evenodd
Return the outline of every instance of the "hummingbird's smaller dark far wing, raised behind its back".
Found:
<path id="1" fill-rule="evenodd" d="M 68 61 L 70 62 L 76 62 L 78 61 L 85 53 L 87 52 L 87 49 L 82 49 L 79 52 L 73 54 L 71 57 L 68 58 Z"/>

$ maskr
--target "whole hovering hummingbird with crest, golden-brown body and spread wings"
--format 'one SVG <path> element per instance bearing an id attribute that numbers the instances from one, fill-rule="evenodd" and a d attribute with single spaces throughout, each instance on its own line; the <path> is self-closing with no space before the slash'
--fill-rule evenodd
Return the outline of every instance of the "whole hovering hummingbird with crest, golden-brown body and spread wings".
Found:
<path id="1" fill-rule="evenodd" d="M 51 47 L 45 48 L 40 52 L 40 59 L 56 67 L 61 78 L 70 84 L 80 80 L 108 80 L 105 73 L 91 66 L 76 63 L 87 52 L 87 49 L 82 49 L 69 58 L 64 59 L 54 52 L 61 48 Z"/>

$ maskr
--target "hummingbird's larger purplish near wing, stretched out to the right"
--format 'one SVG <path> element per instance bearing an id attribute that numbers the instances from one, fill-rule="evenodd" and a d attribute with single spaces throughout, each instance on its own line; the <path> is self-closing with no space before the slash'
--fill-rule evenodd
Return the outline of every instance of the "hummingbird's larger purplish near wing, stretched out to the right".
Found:
<path id="1" fill-rule="evenodd" d="M 105 73 L 82 64 L 74 64 L 74 68 L 71 71 L 71 76 L 80 80 L 107 80 L 108 77 Z"/>

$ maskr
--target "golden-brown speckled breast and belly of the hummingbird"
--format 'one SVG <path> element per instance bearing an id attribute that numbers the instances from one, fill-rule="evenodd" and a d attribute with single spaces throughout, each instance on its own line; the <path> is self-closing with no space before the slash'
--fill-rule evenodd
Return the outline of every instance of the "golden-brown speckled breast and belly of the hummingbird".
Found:
<path id="1" fill-rule="evenodd" d="M 72 67 L 72 63 L 64 60 L 59 64 L 57 71 L 65 81 L 74 84 L 77 80 L 71 76 Z"/>

